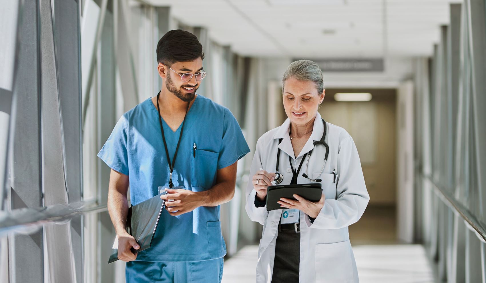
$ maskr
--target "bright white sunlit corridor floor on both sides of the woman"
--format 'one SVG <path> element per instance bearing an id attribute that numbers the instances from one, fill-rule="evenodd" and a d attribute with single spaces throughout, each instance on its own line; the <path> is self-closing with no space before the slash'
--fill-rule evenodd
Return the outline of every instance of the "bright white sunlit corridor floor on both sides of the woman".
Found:
<path id="1" fill-rule="evenodd" d="M 360 283 L 433 283 L 421 245 L 353 247 Z M 255 282 L 258 246 L 246 246 L 225 262 L 223 283 Z"/>

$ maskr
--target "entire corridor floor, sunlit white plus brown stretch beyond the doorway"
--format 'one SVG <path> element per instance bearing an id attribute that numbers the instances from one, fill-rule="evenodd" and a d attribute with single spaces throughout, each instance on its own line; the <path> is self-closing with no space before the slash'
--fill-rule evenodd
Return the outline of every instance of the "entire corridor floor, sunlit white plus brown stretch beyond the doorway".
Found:
<path id="1" fill-rule="evenodd" d="M 434 283 L 424 248 L 397 242 L 395 227 L 393 207 L 368 207 L 349 227 L 360 283 Z M 223 283 L 255 282 L 257 253 L 245 246 L 226 260 Z"/>

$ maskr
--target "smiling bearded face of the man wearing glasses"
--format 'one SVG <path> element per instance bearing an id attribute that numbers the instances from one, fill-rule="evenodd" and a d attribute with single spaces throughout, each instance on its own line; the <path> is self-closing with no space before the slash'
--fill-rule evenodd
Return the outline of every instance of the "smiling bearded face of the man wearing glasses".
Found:
<path id="1" fill-rule="evenodd" d="M 185 73 L 197 74 L 203 71 L 203 60 L 201 58 L 190 62 L 175 62 L 170 66 L 170 69 L 169 66 L 159 63 L 158 70 L 160 77 L 165 81 L 164 86 L 167 90 L 182 101 L 188 102 L 194 99 L 201 81 L 196 81 L 196 76 L 193 75 L 190 81 L 182 82 L 181 76 Z"/>

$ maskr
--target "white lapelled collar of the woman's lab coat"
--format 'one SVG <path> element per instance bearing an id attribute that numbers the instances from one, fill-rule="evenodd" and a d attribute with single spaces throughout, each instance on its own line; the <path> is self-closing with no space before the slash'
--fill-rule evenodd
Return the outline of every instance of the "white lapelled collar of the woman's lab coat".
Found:
<path id="1" fill-rule="evenodd" d="M 278 148 L 280 148 L 280 150 L 282 150 L 290 157 L 295 159 L 294 148 L 292 147 L 292 142 L 290 141 L 289 130 L 290 130 L 290 118 L 287 118 L 287 120 L 285 120 L 285 122 L 283 122 L 283 124 L 275 132 L 273 138 L 283 139 L 282 142 L 280 142 L 280 144 L 278 145 Z M 314 128 L 312 129 L 311 138 L 306 142 L 306 144 L 300 151 L 297 158 L 311 151 L 314 148 L 313 141 L 319 141 L 323 133 L 324 133 L 324 124 L 321 121 L 321 114 L 317 112 L 314 118 Z"/>

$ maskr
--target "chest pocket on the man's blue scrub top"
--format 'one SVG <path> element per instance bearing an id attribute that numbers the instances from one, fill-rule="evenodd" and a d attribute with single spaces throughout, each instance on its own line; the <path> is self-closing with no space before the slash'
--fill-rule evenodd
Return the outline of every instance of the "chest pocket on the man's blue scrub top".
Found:
<path id="1" fill-rule="evenodd" d="M 196 149 L 191 150 L 192 187 L 210 189 L 216 183 L 216 169 L 219 153 Z"/>

